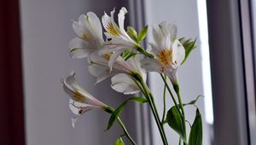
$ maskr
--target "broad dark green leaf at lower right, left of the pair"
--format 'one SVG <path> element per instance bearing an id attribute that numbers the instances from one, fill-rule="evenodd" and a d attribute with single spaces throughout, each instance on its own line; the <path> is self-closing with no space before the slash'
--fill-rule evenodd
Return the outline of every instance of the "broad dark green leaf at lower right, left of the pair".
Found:
<path id="1" fill-rule="evenodd" d="M 177 107 L 173 106 L 167 112 L 166 120 L 168 125 L 177 132 L 179 136 L 183 139 L 183 142 L 186 141 L 186 128 L 185 128 L 185 121 L 182 115 L 178 113 Z"/>

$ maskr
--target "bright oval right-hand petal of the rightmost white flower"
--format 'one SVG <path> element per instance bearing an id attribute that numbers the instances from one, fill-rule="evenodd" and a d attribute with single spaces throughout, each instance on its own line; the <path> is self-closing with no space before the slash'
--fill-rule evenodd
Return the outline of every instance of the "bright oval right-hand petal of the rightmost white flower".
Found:
<path id="1" fill-rule="evenodd" d="M 183 45 L 180 44 L 180 42 L 176 39 L 172 44 L 172 59 L 173 61 L 176 61 L 175 63 L 177 63 L 177 66 L 180 66 L 184 58 L 185 49 L 183 48 Z"/>

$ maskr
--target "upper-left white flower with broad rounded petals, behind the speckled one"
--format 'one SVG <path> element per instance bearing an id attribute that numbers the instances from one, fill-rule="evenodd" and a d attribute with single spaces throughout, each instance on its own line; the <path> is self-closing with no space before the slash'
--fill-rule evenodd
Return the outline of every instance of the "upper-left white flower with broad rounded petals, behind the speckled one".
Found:
<path id="1" fill-rule="evenodd" d="M 79 21 L 73 21 L 73 30 L 78 38 L 69 42 L 70 55 L 73 58 L 84 58 L 96 49 L 102 48 L 102 24 L 93 12 L 79 16 Z"/>

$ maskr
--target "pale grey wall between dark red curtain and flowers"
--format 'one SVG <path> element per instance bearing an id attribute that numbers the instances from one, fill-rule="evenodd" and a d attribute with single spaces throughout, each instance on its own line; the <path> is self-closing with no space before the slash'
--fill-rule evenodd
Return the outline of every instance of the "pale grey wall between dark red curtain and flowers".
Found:
<path id="1" fill-rule="evenodd" d="M 73 129 L 73 114 L 60 82 L 74 70 L 79 82 L 102 102 L 116 107 L 124 100 L 110 90 L 108 81 L 94 88 L 86 60 L 71 59 L 67 49 L 75 37 L 72 20 L 79 14 L 92 10 L 101 16 L 120 5 L 118 0 L 20 0 L 27 145 L 113 144 L 120 135 L 117 125 L 103 132 L 109 116 L 96 111 L 85 114 Z M 131 120 L 127 113 L 124 119 Z"/>

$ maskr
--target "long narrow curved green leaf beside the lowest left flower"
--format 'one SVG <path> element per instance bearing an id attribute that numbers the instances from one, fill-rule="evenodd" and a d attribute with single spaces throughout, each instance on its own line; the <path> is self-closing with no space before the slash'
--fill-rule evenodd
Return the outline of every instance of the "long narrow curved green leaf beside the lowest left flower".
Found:
<path id="1" fill-rule="evenodd" d="M 126 103 L 132 101 L 132 102 L 138 102 L 138 103 L 144 103 L 144 102 L 148 102 L 147 99 L 141 97 L 141 96 L 133 96 L 129 99 L 127 99 L 125 102 L 123 102 L 117 109 L 114 110 L 114 112 L 111 114 L 110 119 L 108 120 L 108 127 L 107 130 L 108 131 L 113 123 L 115 122 L 116 119 L 118 119 L 119 114 L 122 112 L 123 108 L 125 107 Z"/>

